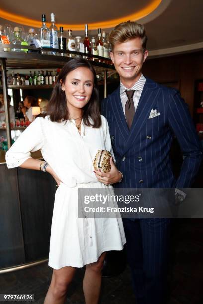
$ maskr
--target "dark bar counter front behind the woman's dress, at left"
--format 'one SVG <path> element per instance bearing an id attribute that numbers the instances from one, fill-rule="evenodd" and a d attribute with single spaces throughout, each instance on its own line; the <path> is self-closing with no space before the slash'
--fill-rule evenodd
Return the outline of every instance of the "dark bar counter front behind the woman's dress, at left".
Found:
<path id="1" fill-rule="evenodd" d="M 55 192 L 50 174 L 8 169 L 0 150 L 0 270 L 48 257 Z"/>

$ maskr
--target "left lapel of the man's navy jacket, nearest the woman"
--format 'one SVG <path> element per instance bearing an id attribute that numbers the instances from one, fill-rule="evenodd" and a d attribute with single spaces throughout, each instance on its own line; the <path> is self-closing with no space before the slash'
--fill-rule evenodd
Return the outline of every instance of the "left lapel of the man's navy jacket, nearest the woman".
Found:
<path id="1" fill-rule="evenodd" d="M 129 137 L 130 131 L 128 129 L 125 115 L 123 113 L 120 99 L 120 86 L 110 95 L 110 102 L 112 106 L 112 112 L 114 114 L 120 133 L 123 139 L 126 140 Z"/>

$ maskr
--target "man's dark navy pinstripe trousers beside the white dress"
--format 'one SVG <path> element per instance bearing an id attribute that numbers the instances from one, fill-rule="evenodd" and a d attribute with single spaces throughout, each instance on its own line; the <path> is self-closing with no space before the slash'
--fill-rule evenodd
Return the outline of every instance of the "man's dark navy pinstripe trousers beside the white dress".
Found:
<path id="1" fill-rule="evenodd" d="M 137 304 L 164 304 L 170 219 L 123 218 Z"/>

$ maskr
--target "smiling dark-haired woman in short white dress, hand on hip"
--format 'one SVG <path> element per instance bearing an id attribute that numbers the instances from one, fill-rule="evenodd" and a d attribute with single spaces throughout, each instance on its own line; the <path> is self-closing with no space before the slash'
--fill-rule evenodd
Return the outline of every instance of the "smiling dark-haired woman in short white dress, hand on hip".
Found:
<path id="1" fill-rule="evenodd" d="M 88 61 L 73 59 L 62 68 L 47 114 L 36 118 L 12 145 L 7 166 L 46 170 L 58 185 L 49 252 L 53 276 L 44 303 L 64 303 L 76 268 L 86 265 L 85 301 L 97 304 L 105 252 L 122 250 L 126 240 L 119 217 L 78 217 L 79 188 L 112 188 L 94 173 L 97 150 L 113 152 L 108 123 L 99 114 L 96 74 Z M 39 149 L 46 162 L 30 157 L 30 151 Z M 112 159 L 111 172 L 110 183 L 118 182 L 122 174 Z"/>

